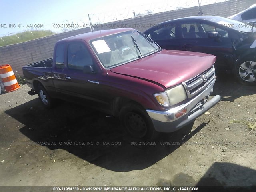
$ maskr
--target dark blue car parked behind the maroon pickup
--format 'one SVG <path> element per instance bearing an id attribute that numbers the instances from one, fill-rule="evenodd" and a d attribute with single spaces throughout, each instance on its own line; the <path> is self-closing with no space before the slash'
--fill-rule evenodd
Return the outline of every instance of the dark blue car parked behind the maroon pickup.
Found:
<path id="1" fill-rule="evenodd" d="M 216 56 L 218 71 L 256 85 L 256 25 L 219 16 L 192 16 L 160 23 L 144 32 L 162 48 Z"/>

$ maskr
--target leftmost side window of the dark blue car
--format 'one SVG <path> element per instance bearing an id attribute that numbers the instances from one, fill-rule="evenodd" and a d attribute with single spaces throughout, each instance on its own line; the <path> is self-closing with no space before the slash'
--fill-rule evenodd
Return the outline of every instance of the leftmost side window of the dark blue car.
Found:
<path id="1" fill-rule="evenodd" d="M 175 32 L 176 24 L 164 24 L 159 25 L 153 32 L 151 32 L 148 37 L 152 40 L 168 40 L 176 39 Z"/>

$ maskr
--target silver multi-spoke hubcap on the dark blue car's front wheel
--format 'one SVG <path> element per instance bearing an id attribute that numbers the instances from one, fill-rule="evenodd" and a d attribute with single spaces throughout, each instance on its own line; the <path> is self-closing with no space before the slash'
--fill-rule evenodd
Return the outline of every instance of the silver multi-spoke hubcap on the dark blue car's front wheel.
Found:
<path id="1" fill-rule="evenodd" d="M 239 67 L 240 77 L 247 82 L 256 81 L 256 62 L 246 61 Z"/>

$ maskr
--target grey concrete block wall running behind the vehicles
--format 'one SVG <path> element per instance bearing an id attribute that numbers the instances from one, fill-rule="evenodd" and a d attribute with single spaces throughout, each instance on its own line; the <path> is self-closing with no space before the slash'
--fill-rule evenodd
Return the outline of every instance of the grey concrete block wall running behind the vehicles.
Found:
<path id="1" fill-rule="evenodd" d="M 202 11 L 204 15 L 228 17 L 248 8 L 255 3 L 256 0 L 229 0 L 225 2 L 202 6 Z M 94 30 L 119 28 L 119 26 L 124 26 L 127 28 L 135 28 L 143 32 L 151 26 L 160 22 L 186 16 L 196 16 L 198 15 L 198 12 L 198 7 L 172 10 L 105 23 L 100 25 L 100 27 L 98 28 L 94 27 Z M 18 43 L 9 46 L 2 46 L 0 47 L 0 65 L 10 64 L 12 66 L 12 69 L 14 70 L 14 73 L 23 76 L 22 66 L 38 62 L 47 58 L 51 58 L 54 50 L 54 44 L 58 40 L 86 32 L 90 32 L 90 28 L 82 28 L 70 32 L 64 32 L 44 38 L 39 38 L 36 40 L 31 40 L 28 42 Z"/>

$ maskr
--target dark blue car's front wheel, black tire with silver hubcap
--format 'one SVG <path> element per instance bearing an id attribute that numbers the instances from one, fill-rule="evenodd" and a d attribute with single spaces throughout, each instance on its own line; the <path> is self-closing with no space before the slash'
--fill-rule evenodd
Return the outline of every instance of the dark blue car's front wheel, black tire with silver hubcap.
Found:
<path id="1" fill-rule="evenodd" d="M 256 85 L 256 58 L 248 57 L 236 65 L 235 76 L 244 85 Z"/>

